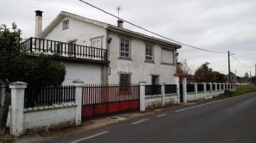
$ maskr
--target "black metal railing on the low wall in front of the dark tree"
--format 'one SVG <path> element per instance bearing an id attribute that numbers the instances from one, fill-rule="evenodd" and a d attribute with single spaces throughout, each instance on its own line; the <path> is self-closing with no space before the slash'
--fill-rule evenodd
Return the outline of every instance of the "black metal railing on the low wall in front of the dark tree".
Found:
<path id="1" fill-rule="evenodd" d="M 75 102 L 75 86 L 28 86 L 24 108 Z"/>

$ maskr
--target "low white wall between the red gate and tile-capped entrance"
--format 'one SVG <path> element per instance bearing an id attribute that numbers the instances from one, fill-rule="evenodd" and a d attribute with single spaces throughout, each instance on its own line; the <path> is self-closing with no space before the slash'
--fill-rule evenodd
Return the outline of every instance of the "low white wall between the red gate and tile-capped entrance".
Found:
<path id="1" fill-rule="evenodd" d="M 177 101 L 177 93 L 166 94 L 165 95 L 165 105 L 172 105 L 178 103 Z M 145 108 L 153 109 L 159 108 L 163 106 L 163 96 L 154 95 L 154 96 L 145 96 Z"/>

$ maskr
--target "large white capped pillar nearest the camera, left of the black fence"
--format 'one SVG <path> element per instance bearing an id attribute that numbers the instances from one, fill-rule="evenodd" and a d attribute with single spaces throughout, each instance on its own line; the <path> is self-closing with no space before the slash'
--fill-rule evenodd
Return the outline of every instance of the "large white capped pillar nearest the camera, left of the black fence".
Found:
<path id="1" fill-rule="evenodd" d="M 27 84 L 16 81 L 9 84 L 11 88 L 11 116 L 10 116 L 10 133 L 19 136 L 23 133 L 24 117 L 24 93 Z"/>

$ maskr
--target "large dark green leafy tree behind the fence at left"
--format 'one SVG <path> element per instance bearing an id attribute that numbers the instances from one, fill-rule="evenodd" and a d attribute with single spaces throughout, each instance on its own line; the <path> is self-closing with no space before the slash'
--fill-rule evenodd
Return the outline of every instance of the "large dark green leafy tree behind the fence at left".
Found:
<path id="1" fill-rule="evenodd" d="M 65 66 L 55 56 L 28 57 L 20 47 L 20 34 L 15 23 L 12 30 L 0 28 L 0 79 L 3 81 L 24 81 L 28 84 L 58 85 L 65 79 Z"/>

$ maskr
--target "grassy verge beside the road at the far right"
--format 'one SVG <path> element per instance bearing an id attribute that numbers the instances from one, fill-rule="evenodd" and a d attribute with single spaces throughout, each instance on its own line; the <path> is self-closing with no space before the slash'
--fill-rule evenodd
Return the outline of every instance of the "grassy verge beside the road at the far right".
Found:
<path id="1" fill-rule="evenodd" d="M 236 87 L 235 91 L 224 91 L 223 94 L 220 94 L 219 96 L 215 96 L 215 99 L 225 99 L 230 98 L 234 96 L 240 96 L 247 93 L 256 92 L 256 88 L 252 86 L 238 86 Z"/>

